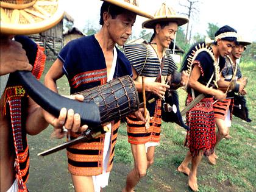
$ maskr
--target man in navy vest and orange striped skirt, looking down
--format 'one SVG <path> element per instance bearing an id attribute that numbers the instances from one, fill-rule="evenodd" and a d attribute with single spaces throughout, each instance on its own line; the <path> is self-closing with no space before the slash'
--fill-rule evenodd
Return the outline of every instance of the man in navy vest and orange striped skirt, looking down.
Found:
<path id="1" fill-rule="evenodd" d="M 132 76 L 129 61 L 115 44 L 123 46 L 132 33 L 137 15 L 152 18 L 138 9 L 138 1 L 105 0 L 101 6 L 101 30 L 73 40 L 62 49 L 46 74 L 46 86 L 57 92 L 56 80 L 65 74 L 72 94 L 106 84 L 116 77 Z M 139 110 L 135 115 L 149 126 L 149 114 L 144 117 L 143 112 Z M 90 143 L 79 143 L 67 149 L 68 169 L 76 191 L 100 191 L 107 186 L 119 123 L 112 121 L 107 124 L 110 132 Z M 79 132 L 70 132 L 71 139 L 79 135 Z"/>

